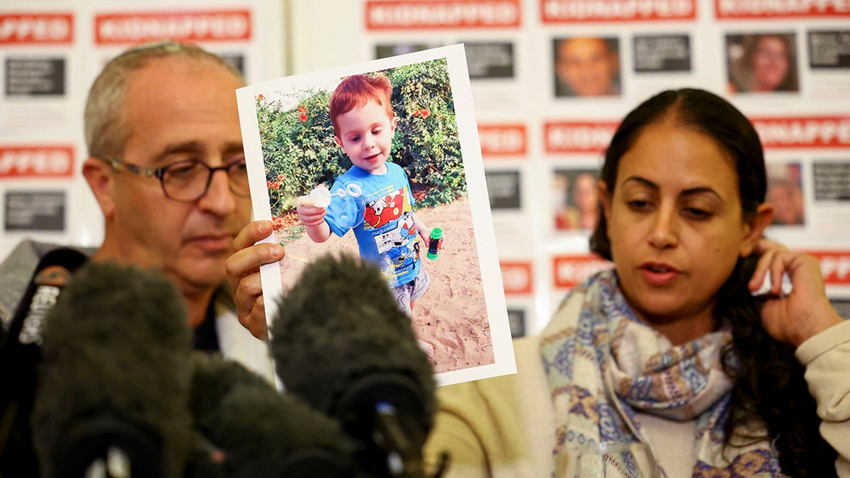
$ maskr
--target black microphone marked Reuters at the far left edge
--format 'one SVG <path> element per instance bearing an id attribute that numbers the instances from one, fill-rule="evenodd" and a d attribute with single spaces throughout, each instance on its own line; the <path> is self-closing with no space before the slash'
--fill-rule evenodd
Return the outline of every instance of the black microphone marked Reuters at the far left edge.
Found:
<path id="1" fill-rule="evenodd" d="M 29 425 L 42 360 L 42 322 L 86 256 L 71 248 L 45 254 L 0 339 L 0 476 L 37 475 Z"/>

